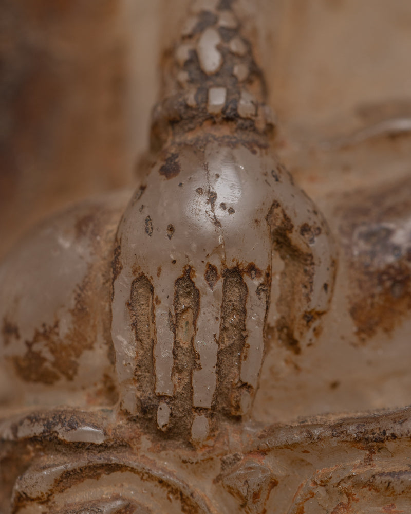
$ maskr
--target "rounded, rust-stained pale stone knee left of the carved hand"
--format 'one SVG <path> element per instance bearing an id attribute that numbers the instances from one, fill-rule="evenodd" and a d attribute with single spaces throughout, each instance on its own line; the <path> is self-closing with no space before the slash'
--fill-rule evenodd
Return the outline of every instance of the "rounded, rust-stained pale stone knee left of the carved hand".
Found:
<path id="1" fill-rule="evenodd" d="M 34 227 L 0 266 L 0 405 L 117 401 L 110 263 L 131 192 L 83 201 Z"/>

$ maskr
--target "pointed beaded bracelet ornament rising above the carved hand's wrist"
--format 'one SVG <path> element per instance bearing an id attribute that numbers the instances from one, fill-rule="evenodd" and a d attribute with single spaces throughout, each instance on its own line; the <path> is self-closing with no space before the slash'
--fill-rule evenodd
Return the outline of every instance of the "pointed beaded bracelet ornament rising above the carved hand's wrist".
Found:
<path id="1" fill-rule="evenodd" d="M 160 102 L 152 118 L 152 150 L 206 123 L 210 130 L 234 124 L 231 133 L 234 128 L 258 138 L 273 132 L 264 75 L 233 3 L 192 2 L 179 38 L 164 58 Z"/>

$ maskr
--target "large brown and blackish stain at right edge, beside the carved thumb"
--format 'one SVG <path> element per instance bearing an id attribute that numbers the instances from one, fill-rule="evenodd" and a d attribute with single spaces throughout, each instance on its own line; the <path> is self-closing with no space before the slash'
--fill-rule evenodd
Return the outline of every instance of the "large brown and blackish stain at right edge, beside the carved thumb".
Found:
<path id="1" fill-rule="evenodd" d="M 391 333 L 411 311 L 411 233 L 405 229 L 411 181 L 403 179 L 384 191 L 350 193 L 337 214 L 354 285 L 349 313 L 357 336 L 366 341 L 378 331 Z"/>

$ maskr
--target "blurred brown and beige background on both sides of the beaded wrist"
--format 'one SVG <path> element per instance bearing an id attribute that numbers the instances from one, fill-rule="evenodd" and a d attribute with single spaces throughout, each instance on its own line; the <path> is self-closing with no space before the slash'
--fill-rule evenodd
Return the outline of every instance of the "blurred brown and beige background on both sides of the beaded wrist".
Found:
<path id="1" fill-rule="evenodd" d="M 238 2 L 286 160 L 361 105 L 408 105 L 409 0 Z M 187 4 L 0 0 L 0 257 L 54 210 L 137 182 L 160 49 Z"/>

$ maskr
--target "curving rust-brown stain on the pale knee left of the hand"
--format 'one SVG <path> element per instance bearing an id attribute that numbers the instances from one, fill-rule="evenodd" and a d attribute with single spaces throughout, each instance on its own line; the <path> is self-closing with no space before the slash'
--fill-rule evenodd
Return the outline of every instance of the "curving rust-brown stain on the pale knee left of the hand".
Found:
<path id="1" fill-rule="evenodd" d="M 77 218 L 74 234 L 80 244 L 86 242 L 89 245 L 99 262 L 88 265 L 82 282 L 72 291 L 73 307 L 67 309 L 72 323 L 64 336 L 60 335 L 60 321 L 56 317 L 53 323 L 40 323 L 33 328 L 33 336 L 24 341 L 26 350 L 23 355 L 8 357 L 16 374 L 26 382 L 52 384 L 63 378 L 75 379 L 81 355 L 94 347 L 99 323 L 96 309 L 102 315 L 100 328 L 105 334 L 109 333 L 110 263 L 114 277 L 121 271 L 120 245 L 113 244 L 115 234 L 110 224 L 113 224 L 113 215 L 119 216 L 119 212 L 95 205 L 89 211 Z M 96 301 L 96 295 L 99 301 Z M 19 328 L 12 318 L 7 320 L 6 332 L 11 342 L 20 339 L 22 344 Z M 113 346 L 109 341 L 107 356 L 109 362 L 113 362 Z M 113 395 L 109 393 L 109 396 Z"/>

